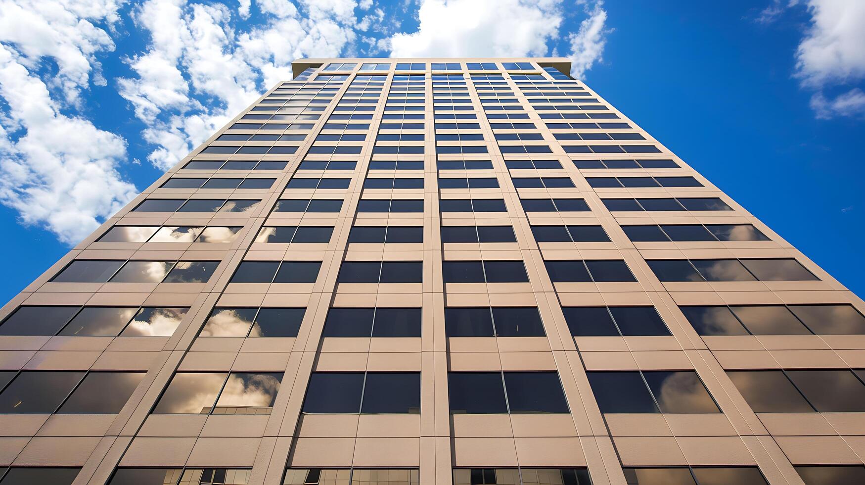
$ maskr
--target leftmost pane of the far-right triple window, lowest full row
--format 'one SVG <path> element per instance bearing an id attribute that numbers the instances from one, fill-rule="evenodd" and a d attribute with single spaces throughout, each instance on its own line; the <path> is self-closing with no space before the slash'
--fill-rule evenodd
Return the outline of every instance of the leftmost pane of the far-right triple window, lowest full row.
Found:
<path id="1" fill-rule="evenodd" d="M 728 371 L 727 376 L 754 412 L 814 411 L 784 372 Z"/>

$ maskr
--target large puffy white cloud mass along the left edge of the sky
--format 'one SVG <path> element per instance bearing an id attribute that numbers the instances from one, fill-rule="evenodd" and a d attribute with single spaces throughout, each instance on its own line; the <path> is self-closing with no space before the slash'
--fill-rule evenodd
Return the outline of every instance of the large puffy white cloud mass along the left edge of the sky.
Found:
<path id="1" fill-rule="evenodd" d="M 80 241 L 137 192 L 118 172 L 125 140 L 63 113 L 75 111 L 90 82 L 104 81 L 95 56 L 114 43 L 96 24 L 111 26 L 118 7 L 0 2 L 0 203 L 64 243 Z"/>

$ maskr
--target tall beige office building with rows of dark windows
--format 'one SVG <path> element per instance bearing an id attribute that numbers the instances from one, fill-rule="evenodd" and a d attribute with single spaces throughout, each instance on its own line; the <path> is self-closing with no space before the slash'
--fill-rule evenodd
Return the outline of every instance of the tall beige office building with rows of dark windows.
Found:
<path id="1" fill-rule="evenodd" d="M 567 59 L 293 70 L 3 307 L 0 485 L 865 483 L 865 303 Z"/>

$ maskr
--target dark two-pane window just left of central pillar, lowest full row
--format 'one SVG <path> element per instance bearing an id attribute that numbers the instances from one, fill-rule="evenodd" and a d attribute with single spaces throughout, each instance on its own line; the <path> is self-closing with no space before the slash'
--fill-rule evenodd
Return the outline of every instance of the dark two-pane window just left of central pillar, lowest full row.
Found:
<path id="1" fill-rule="evenodd" d="M 418 414 L 420 372 L 312 372 L 303 412 Z"/>

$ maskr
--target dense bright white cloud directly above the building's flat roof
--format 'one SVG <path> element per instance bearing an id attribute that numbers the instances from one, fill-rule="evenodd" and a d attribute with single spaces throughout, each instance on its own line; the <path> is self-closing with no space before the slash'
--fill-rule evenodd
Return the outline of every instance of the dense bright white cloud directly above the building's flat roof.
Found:
<path id="1" fill-rule="evenodd" d="M 546 55 L 559 33 L 555 0 L 424 0 L 420 27 L 390 38 L 393 57 Z"/>

